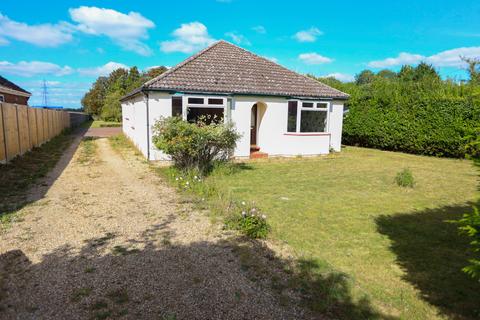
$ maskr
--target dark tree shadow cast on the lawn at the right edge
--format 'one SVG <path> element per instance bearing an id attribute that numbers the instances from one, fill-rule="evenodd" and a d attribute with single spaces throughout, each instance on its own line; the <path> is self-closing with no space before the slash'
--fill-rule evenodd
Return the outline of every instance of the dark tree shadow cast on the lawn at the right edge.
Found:
<path id="1" fill-rule="evenodd" d="M 391 240 L 404 279 L 452 319 L 480 317 L 480 282 L 461 271 L 473 257 L 469 240 L 448 222 L 471 210 L 472 204 L 467 203 L 376 220 L 378 231 Z"/>

